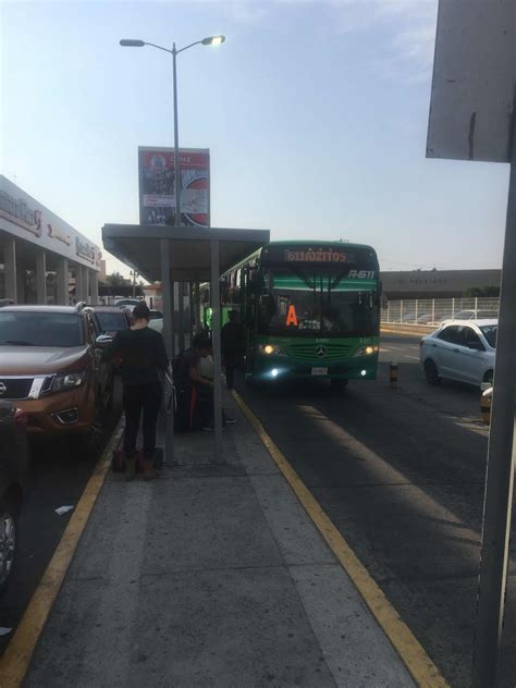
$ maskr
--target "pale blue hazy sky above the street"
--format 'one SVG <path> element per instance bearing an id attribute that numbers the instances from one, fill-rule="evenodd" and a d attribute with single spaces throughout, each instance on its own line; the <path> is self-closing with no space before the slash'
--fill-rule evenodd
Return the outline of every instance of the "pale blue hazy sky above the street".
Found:
<path id="1" fill-rule="evenodd" d="M 501 267 L 508 165 L 425 157 L 437 4 L 0 0 L 0 171 L 99 245 L 138 223 L 137 148 L 173 146 L 172 59 L 119 40 L 223 34 L 177 57 L 212 226 L 371 244 L 383 270 Z"/>

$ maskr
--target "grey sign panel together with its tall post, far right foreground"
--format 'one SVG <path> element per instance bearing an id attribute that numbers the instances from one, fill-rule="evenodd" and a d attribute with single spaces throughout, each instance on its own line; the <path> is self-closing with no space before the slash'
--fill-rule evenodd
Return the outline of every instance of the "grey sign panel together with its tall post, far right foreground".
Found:
<path id="1" fill-rule="evenodd" d="M 427 157 L 511 163 L 472 666 L 472 687 L 488 688 L 500 673 L 516 446 L 516 0 L 440 0 Z"/>

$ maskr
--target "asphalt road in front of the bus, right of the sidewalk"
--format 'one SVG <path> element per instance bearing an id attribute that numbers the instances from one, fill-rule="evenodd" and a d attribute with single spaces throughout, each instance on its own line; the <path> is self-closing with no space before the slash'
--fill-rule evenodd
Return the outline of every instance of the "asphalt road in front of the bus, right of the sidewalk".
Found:
<path id="1" fill-rule="evenodd" d="M 376 382 L 238 391 L 451 685 L 470 685 L 488 429 L 479 391 L 431 386 L 385 334 Z M 398 389 L 389 363 L 398 364 Z M 514 519 L 513 519 L 514 523 Z M 515 543 L 501 687 L 516 685 Z"/>

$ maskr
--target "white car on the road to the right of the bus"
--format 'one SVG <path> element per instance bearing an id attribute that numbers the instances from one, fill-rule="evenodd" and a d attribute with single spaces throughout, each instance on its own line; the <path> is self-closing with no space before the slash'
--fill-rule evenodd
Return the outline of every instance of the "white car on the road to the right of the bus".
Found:
<path id="1" fill-rule="evenodd" d="M 492 382 L 497 320 L 452 320 L 423 336 L 419 360 L 431 384 L 441 378 L 480 386 Z"/>

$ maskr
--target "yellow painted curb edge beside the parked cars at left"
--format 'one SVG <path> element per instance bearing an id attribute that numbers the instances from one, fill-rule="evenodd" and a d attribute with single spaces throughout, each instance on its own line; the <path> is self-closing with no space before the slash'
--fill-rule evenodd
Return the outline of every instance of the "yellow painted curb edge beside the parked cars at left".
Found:
<path id="1" fill-rule="evenodd" d="M 97 496 L 103 486 L 111 464 L 111 453 L 122 435 L 122 425 L 123 419 L 119 421 L 108 445 L 94 468 L 94 472 L 81 495 L 77 506 L 74 508 L 69 525 L 25 610 L 22 621 L 5 652 L 0 658 L 1 688 L 19 688 L 25 677 L 36 643 L 45 628 L 64 576 L 77 549 L 81 536 L 86 528 Z"/>

